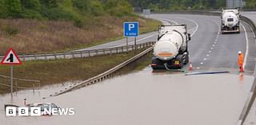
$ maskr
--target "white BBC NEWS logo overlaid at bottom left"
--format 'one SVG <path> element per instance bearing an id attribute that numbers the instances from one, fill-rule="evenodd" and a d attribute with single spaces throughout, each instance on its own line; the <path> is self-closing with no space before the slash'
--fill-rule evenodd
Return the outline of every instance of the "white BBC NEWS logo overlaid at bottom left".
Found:
<path id="1" fill-rule="evenodd" d="M 6 116 L 74 115 L 74 108 L 6 107 Z"/>

